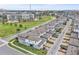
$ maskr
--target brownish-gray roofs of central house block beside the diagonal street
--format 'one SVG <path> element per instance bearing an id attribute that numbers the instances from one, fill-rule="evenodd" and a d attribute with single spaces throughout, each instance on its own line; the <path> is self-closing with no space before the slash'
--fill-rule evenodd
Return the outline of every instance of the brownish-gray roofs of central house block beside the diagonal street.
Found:
<path id="1" fill-rule="evenodd" d="M 57 21 L 58 22 L 58 21 Z M 42 40 L 38 46 L 41 46 L 48 38 L 49 36 L 51 36 L 53 34 L 52 31 L 50 31 L 49 33 L 46 33 L 44 35 L 42 35 L 43 37 L 39 37 L 41 34 L 47 32 L 48 30 L 52 30 L 53 26 L 55 25 L 56 22 L 49 22 L 47 23 L 46 25 L 42 25 L 42 26 L 39 26 L 37 28 L 35 28 L 34 30 L 31 30 L 29 32 L 26 32 L 26 33 L 23 33 L 21 35 L 19 35 L 20 37 L 24 37 L 25 39 L 28 39 L 28 40 L 32 40 L 32 41 L 39 41 L 39 40 Z M 50 26 L 49 24 L 51 25 L 51 29 L 50 29 Z"/>

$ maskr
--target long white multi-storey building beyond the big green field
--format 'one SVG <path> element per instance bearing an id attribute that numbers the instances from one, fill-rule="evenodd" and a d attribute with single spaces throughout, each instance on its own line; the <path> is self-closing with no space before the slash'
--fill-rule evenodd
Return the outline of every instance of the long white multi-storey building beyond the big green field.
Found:
<path id="1" fill-rule="evenodd" d="M 8 20 L 34 20 L 34 14 L 7 14 L 7 19 Z"/>

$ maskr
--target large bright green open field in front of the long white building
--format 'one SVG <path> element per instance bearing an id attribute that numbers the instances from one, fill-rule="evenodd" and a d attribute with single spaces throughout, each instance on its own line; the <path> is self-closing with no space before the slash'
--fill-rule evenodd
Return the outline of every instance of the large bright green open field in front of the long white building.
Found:
<path id="1" fill-rule="evenodd" d="M 10 25 L 10 24 L 0 23 L 0 37 L 4 37 L 4 36 L 8 36 L 10 34 L 16 33 L 17 28 L 19 28 L 21 30 L 25 30 L 25 27 L 26 27 L 26 29 L 32 28 L 34 26 L 37 26 L 37 25 L 42 24 L 49 20 L 51 20 L 51 16 L 44 16 L 44 17 L 42 17 L 42 19 L 40 19 L 38 21 L 17 23 L 17 26 L 15 26 L 15 24 Z M 23 27 L 19 27 L 19 24 L 22 24 Z"/>

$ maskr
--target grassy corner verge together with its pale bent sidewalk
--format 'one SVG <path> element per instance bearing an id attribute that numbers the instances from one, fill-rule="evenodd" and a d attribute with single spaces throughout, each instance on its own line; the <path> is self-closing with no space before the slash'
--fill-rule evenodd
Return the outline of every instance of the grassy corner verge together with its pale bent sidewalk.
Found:
<path id="1" fill-rule="evenodd" d="M 32 55 L 45 55 L 47 54 L 47 51 L 42 49 L 35 49 L 30 46 L 26 46 L 24 44 L 19 43 L 16 39 L 12 39 L 9 43 L 9 46 L 12 48 L 15 48 L 25 54 L 30 53 Z"/>

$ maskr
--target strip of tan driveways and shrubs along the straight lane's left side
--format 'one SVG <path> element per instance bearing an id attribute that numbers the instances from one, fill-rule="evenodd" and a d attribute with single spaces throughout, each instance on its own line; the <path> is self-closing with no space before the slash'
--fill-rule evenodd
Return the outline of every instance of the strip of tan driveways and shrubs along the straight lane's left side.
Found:
<path id="1" fill-rule="evenodd" d="M 60 33 L 62 32 L 63 28 L 64 28 L 64 24 L 63 23 L 59 23 L 58 25 L 55 26 L 54 30 L 50 30 L 47 33 L 49 33 L 48 35 L 46 35 L 45 37 L 48 37 L 47 43 L 44 44 L 44 48 L 48 51 L 53 44 L 55 43 L 56 39 L 58 38 L 58 36 L 60 35 Z M 52 35 L 51 35 L 52 34 Z"/>

